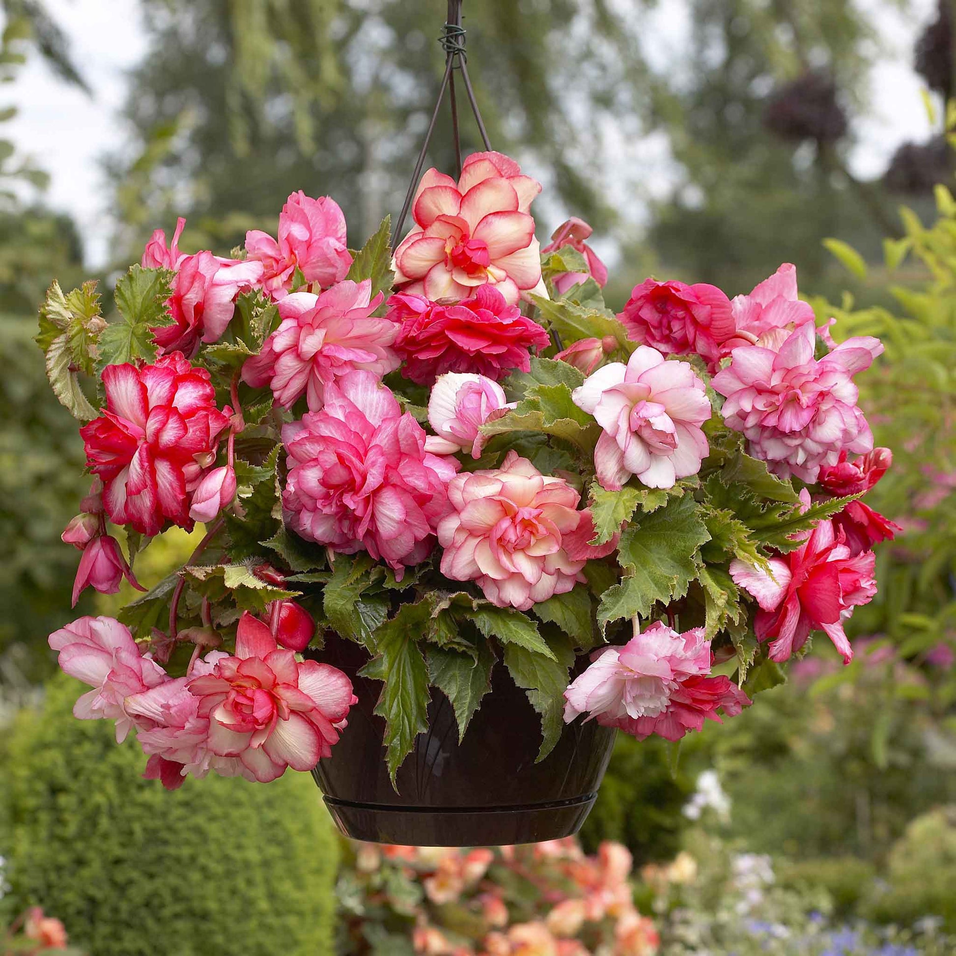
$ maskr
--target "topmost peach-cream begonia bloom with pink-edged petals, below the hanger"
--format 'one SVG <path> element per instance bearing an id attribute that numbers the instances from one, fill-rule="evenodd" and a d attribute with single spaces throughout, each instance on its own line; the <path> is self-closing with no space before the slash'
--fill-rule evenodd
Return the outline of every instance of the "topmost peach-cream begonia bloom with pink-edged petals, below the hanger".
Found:
<path id="1" fill-rule="evenodd" d="M 528 211 L 540 191 L 501 153 L 472 153 L 458 183 L 429 169 L 412 204 L 415 226 L 395 250 L 396 288 L 433 302 L 468 298 L 486 283 L 510 305 L 547 295 Z"/>

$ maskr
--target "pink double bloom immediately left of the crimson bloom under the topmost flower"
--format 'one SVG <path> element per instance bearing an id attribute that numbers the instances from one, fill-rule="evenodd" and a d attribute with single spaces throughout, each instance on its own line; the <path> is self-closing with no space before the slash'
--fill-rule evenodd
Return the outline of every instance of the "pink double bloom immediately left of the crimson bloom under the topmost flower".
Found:
<path id="1" fill-rule="evenodd" d="M 322 407 L 325 386 L 354 369 L 381 378 L 399 367 L 392 348 L 399 329 L 388 318 L 375 318 L 382 295 L 371 298 L 372 282 L 345 281 L 320 295 L 293 293 L 279 302 L 282 322 L 259 355 L 243 365 L 243 381 L 269 385 L 285 408 L 302 395 L 309 408 Z"/>

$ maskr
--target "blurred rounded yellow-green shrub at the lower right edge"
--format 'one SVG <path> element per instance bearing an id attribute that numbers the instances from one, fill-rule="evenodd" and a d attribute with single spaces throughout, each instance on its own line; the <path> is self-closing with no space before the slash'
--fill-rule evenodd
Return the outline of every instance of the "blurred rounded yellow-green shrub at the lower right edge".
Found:
<path id="1" fill-rule="evenodd" d="M 938 916 L 956 932 L 956 806 L 918 816 L 890 851 L 888 886 L 874 894 L 868 915 L 881 923 Z"/>

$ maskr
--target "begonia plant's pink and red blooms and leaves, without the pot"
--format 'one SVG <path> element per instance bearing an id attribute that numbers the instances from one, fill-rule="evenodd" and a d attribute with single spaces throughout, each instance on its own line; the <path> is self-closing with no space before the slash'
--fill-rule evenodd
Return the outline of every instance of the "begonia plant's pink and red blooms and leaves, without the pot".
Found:
<path id="1" fill-rule="evenodd" d="M 205 526 L 117 619 L 50 638 L 147 776 L 313 768 L 355 703 L 332 635 L 382 684 L 393 779 L 429 695 L 464 735 L 496 667 L 543 758 L 565 722 L 676 741 L 737 714 L 813 631 L 852 658 L 895 532 L 858 501 L 891 462 L 854 383 L 879 340 L 837 346 L 791 265 L 732 300 L 646 279 L 615 315 L 586 224 L 539 250 L 540 188 L 476 153 L 424 174 L 394 253 L 387 220 L 349 250 L 299 192 L 229 258 L 157 230 L 108 320 L 95 284 L 51 288 L 37 340 L 92 476 L 74 603 Z"/>

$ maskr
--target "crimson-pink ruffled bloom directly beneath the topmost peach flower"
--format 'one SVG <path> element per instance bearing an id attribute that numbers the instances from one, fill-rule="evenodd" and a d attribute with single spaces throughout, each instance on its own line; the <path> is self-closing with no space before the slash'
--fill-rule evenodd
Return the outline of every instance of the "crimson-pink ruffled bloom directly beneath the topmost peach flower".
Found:
<path id="1" fill-rule="evenodd" d="M 424 295 L 398 293 L 388 300 L 388 318 L 398 323 L 395 350 L 402 375 L 430 385 L 445 372 L 503 379 L 531 368 L 530 350 L 547 348 L 548 333 L 505 301 L 493 286 L 480 286 L 456 305 Z"/>

